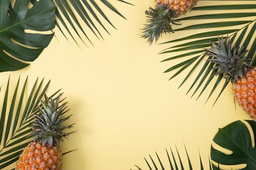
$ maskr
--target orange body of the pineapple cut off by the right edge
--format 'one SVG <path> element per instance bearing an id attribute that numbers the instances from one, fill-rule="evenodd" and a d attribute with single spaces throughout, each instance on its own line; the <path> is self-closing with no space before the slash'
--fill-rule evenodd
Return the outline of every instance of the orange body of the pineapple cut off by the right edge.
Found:
<path id="1" fill-rule="evenodd" d="M 238 104 L 256 121 L 256 68 L 233 83 L 234 96 Z"/>

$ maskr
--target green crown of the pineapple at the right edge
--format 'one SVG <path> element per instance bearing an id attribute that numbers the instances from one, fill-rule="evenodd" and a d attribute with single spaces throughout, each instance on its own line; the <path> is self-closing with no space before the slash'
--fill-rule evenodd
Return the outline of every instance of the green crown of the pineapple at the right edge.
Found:
<path id="1" fill-rule="evenodd" d="M 245 56 L 248 51 L 232 46 L 234 39 L 227 36 L 225 39 L 218 38 L 218 42 L 211 42 L 211 49 L 205 50 L 206 54 L 211 57 L 208 61 L 215 64 L 217 74 L 223 74 L 227 81 L 234 82 L 242 77 L 248 68 L 252 68 L 250 60 Z"/>

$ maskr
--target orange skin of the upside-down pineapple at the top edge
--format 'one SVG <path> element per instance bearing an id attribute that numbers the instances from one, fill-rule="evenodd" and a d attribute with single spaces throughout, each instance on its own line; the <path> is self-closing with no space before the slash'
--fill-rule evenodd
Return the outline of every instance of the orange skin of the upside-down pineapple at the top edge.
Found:
<path id="1" fill-rule="evenodd" d="M 190 11 L 198 0 L 156 0 L 157 4 L 170 6 L 170 10 L 175 11 L 177 16 L 181 16 Z"/>

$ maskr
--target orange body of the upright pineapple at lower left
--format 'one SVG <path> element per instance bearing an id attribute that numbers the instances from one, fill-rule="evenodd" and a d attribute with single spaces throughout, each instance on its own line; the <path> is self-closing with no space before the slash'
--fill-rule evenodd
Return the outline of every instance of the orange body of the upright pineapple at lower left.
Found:
<path id="1" fill-rule="evenodd" d="M 16 170 L 60 170 L 61 157 L 59 147 L 31 142 L 21 153 Z"/>

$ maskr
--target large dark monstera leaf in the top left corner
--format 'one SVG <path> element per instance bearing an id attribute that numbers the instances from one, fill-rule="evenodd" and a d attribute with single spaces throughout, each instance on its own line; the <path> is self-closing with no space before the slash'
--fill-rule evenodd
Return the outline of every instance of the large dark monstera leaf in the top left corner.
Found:
<path id="1" fill-rule="evenodd" d="M 55 5 L 40 0 L 28 9 L 30 0 L 0 0 L 0 72 L 25 68 L 36 60 L 52 40 Z M 35 32 L 36 31 L 36 32 Z"/>

